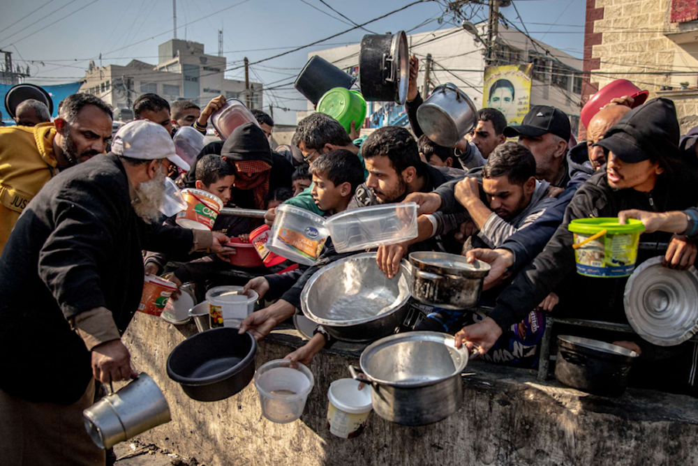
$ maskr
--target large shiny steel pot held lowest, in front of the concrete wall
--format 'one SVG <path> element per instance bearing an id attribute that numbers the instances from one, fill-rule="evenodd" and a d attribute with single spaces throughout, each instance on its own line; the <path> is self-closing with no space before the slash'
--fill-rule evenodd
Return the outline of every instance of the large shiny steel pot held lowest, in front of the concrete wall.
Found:
<path id="1" fill-rule="evenodd" d="M 376 341 L 353 366 L 357 380 L 371 384 L 373 410 L 386 421 L 424 426 L 456 412 L 463 402 L 461 373 L 468 364 L 465 345 L 454 347 L 446 333 L 415 331 Z"/>

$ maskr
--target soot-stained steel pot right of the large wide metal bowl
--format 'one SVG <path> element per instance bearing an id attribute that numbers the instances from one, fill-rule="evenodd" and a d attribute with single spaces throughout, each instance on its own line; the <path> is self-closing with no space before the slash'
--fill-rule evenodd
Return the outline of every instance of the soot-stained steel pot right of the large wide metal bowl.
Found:
<path id="1" fill-rule="evenodd" d="M 468 263 L 460 255 L 412 253 L 412 296 L 420 303 L 447 309 L 472 308 L 480 299 L 489 264 Z"/>

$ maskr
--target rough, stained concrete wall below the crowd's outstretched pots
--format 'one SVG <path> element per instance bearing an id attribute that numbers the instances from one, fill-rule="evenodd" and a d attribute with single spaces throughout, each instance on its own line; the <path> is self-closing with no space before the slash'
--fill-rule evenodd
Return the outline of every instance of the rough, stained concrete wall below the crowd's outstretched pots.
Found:
<path id="1" fill-rule="evenodd" d="M 165 393 L 172 422 L 139 437 L 206 465 L 692 465 L 698 464 L 698 406 L 693 398 L 629 389 L 602 398 L 540 382 L 530 370 L 474 361 L 463 377 L 463 405 L 439 423 L 399 426 L 371 414 L 364 433 L 339 439 L 326 426 L 327 389 L 348 377 L 362 345 L 336 345 L 315 356 L 315 387 L 301 419 L 262 416 L 253 384 L 227 400 L 200 403 L 165 372 L 170 351 L 195 333 L 137 314 L 124 341 L 138 370 Z M 260 342 L 257 366 L 302 345 L 292 330 Z"/>

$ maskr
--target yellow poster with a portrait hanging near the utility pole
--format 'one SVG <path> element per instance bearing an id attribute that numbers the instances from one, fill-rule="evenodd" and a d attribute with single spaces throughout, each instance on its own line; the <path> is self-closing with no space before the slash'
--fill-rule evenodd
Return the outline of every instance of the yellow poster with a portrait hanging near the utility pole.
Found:
<path id="1" fill-rule="evenodd" d="M 496 108 L 507 123 L 521 124 L 530 105 L 533 65 L 488 66 L 484 70 L 483 107 Z"/>

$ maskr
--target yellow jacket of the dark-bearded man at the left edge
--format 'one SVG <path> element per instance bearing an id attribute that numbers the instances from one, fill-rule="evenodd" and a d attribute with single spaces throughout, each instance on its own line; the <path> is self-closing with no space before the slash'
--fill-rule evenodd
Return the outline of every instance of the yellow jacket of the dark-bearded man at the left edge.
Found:
<path id="1" fill-rule="evenodd" d="M 53 123 L 0 128 L 0 253 L 31 198 L 56 176 Z"/>

